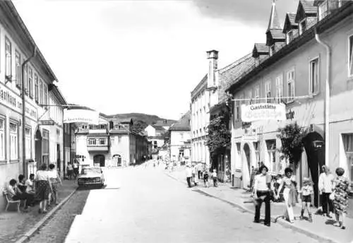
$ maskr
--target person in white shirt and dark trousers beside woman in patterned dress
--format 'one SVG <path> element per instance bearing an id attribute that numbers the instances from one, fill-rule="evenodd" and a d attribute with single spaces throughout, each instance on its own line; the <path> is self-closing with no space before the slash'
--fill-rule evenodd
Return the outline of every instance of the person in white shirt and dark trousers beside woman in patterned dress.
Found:
<path id="1" fill-rule="evenodd" d="M 335 177 L 325 165 L 321 168 L 323 172 L 318 177 L 318 190 L 320 195 L 322 195 L 323 215 L 327 215 L 330 218 L 330 213 L 333 213 L 333 201 L 330 199 L 330 194 L 332 193 Z"/>

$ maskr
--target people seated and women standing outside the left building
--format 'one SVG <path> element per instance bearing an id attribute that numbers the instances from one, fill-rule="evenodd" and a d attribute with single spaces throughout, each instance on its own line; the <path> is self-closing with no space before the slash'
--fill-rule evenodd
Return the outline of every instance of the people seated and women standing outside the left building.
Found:
<path id="1" fill-rule="evenodd" d="M 6 186 L 6 194 L 11 200 L 25 200 L 25 209 L 34 206 L 35 201 L 40 201 L 39 213 L 47 213 L 47 206 L 50 203 L 57 204 L 57 186 L 61 184 L 61 179 L 55 169 L 54 164 L 42 164 L 36 174 L 30 174 L 25 180 L 23 174 L 16 179 L 11 179 Z"/>

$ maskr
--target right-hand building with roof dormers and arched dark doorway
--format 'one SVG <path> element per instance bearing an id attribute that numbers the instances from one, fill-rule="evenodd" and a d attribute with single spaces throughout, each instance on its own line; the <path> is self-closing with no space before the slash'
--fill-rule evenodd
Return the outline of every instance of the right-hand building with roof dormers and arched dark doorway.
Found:
<path id="1" fill-rule="evenodd" d="M 318 206 L 321 165 L 345 169 L 353 181 L 353 2 L 299 1 L 280 28 L 275 4 L 268 25 L 267 43 L 256 44 L 256 65 L 234 80 L 228 91 L 234 105 L 234 165 L 249 186 L 251 167 L 258 161 L 273 174 L 282 173 L 277 129 L 297 123 L 309 132 L 297 168 L 297 179 L 311 177 Z M 249 98 L 251 100 L 243 100 Z M 241 121 L 241 105 L 251 102 L 284 102 L 285 121 Z M 246 131 L 254 131 L 253 136 Z M 238 158 L 237 160 L 235 158 Z"/>

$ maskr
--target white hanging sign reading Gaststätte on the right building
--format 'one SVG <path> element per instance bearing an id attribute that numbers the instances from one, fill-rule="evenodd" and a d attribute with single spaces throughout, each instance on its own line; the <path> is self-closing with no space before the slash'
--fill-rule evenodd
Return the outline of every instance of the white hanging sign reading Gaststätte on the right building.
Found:
<path id="1" fill-rule="evenodd" d="M 283 121 L 285 119 L 286 109 L 284 104 L 260 103 L 253 105 L 241 105 L 241 121 Z"/>

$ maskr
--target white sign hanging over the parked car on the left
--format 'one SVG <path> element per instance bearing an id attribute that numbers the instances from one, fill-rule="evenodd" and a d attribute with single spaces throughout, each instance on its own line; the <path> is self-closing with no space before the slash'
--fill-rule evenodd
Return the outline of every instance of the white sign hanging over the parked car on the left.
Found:
<path id="1" fill-rule="evenodd" d="M 64 123 L 100 123 L 100 113 L 90 109 L 64 109 Z"/>

